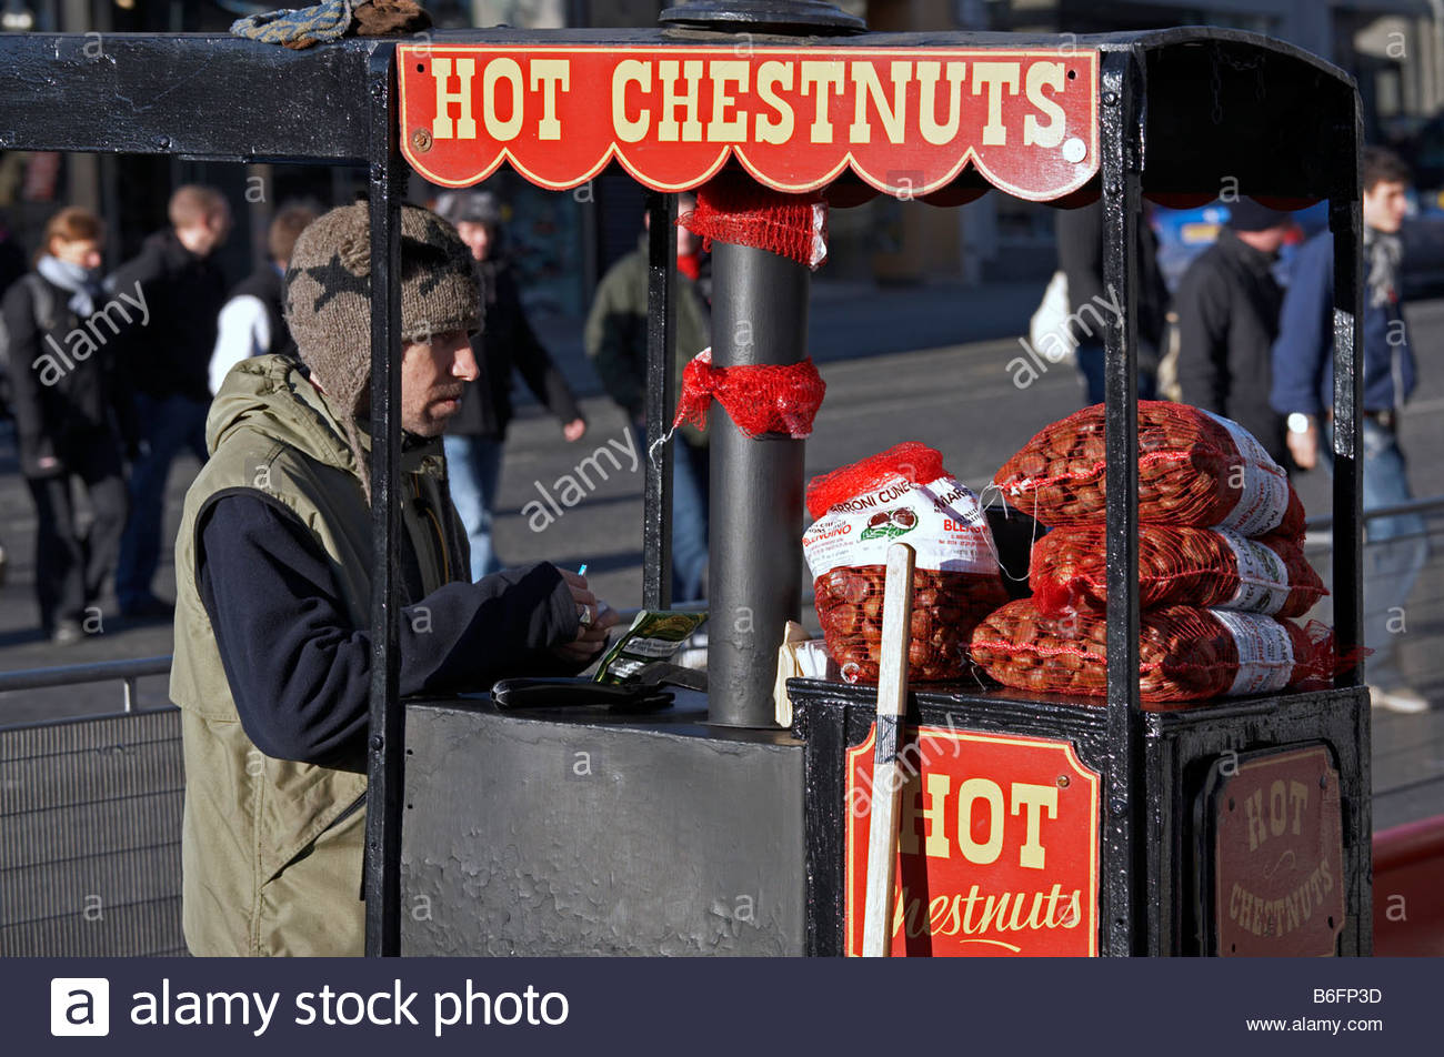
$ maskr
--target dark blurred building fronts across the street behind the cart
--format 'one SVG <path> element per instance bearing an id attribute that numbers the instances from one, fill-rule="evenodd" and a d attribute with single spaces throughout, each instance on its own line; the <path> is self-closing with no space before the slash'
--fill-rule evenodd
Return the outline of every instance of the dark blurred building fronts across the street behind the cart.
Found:
<path id="1" fill-rule="evenodd" d="M 299 3 L 300 0 L 296 0 Z M 3 32 L 225 32 L 273 3 L 248 0 L 0 0 Z M 650 26 L 663 0 L 427 0 L 436 26 Z M 1184 25 L 1248 29 L 1289 40 L 1354 75 L 1373 142 L 1418 134 L 1444 108 L 1444 0 L 845 0 L 879 32 L 939 29 L 1106 33 Z M 103 45 L 101 45 L 103 46 Z M 1438 131 L 1444 166 L 1444 129 Z M 361 173 L 302 166 L 237 166 L 172 157 L 0 155 L 0 214 L 33 248 L 61 205 L 100 211 L 111 225 L 108 264 L 165 222 L 170 189 L 215 183 L 231 198 L 235 234 L 221 264 L 235 280 L 263 254 L 274 209 L 290 199 L 349 201 Z M 637 244 L 644 193 L 621 172 L 588 188 L 544 192 L 503 173 L 491 186 L 507 204 L 511 251 L 539 312 L 585 310 L 598 276 Z M 425 198 L 425 185 L 413 196 Z M 1048 206 L 992 192 L 966 206 L 878 198 L 830 218 L 822 277 L 845 282 L 1008 282 L 1053 270 Z"/>

